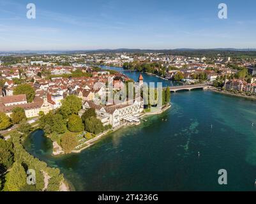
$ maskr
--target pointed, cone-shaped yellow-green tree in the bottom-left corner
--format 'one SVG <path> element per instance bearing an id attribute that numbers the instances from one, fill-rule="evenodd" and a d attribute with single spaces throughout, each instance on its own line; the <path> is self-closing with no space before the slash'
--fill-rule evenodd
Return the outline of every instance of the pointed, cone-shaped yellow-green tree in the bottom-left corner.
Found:
<path id="1" fill-rule="evenodd" d="M 13 167 L 6 175 L 4 191 L 20 191 L 26 186 L 27 175 L 23 166 L 19 162 L 15 162 Z"/>

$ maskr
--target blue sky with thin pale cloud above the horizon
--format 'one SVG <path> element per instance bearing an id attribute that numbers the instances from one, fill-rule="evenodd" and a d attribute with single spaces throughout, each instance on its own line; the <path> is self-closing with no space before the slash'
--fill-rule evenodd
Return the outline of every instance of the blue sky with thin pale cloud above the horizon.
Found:
<path id="1" fill-rule="evenodd" d="M 26 18 L 28 3 L 36 19 Z M 255 8 L 255 0 L 0 0 L 0 50 L 256 48 Z"/>

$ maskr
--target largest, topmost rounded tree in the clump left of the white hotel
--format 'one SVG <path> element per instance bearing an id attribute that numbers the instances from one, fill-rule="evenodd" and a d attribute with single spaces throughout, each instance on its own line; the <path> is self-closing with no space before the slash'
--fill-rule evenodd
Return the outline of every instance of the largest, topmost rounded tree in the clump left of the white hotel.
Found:
<path id="1" fill-rule="evenodd" d="M 69 115 L 77 114 L 82 108 L 82 99 L 75 95 L 67 96 L 63 101 L 61 101 L 61 108 L 59 108 L 59 113 L 63 115 L 66 119 Z"/>

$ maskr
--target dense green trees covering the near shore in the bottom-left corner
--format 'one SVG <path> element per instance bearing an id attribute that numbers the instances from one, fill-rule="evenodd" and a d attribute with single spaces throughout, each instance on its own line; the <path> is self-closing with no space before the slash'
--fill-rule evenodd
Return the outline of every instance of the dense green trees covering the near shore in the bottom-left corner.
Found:
<path id="1" fill-rule="evenodd" d="M 15 132 L 7 142 L 0 139 L 0 166 L 4 166 L 6 171 L 0 173 L 1 189 L 4 191 L 59 191 L 60 183 L 64 179 L 63 175 L 58 169 L 49 168 L 45 162 L 27 153 L 22 146 L 21 138 L 22 135 Z M 35 185 L 28 185 L 26 182 L 28 169 L 36 172 Z M 49 176 L 48 186 L 45 186 L 44 175 Z"/>

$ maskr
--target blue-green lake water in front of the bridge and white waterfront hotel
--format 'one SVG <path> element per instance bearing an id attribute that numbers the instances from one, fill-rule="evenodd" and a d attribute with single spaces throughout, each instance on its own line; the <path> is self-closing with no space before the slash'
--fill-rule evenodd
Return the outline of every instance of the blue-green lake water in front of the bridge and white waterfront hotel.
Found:
<path id="1" fill-rule="evenodd" d="M 171 101 L 169 111 L 80 154 L 52 157 L 42 131 L 25 146 L 60 168 L 77 191 L 255 190 L 255 101 L 209 91 L 173 93 Z M 220 169 L 228 172 L 227 186 L 218 185 Z"/>

